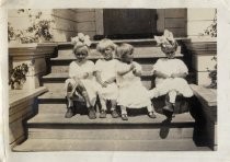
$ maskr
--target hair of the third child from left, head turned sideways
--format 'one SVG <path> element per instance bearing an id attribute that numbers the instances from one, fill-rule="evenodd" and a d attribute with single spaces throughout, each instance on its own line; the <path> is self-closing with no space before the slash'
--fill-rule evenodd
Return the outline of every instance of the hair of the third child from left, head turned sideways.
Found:
<path id="1" fill-rule="evenodd" d="M 129 44 L 122 44 L 116 48 L 116 55 L 119 59 L 125 58 L 125 56 L 134 53 L 134 46 Z"/>

